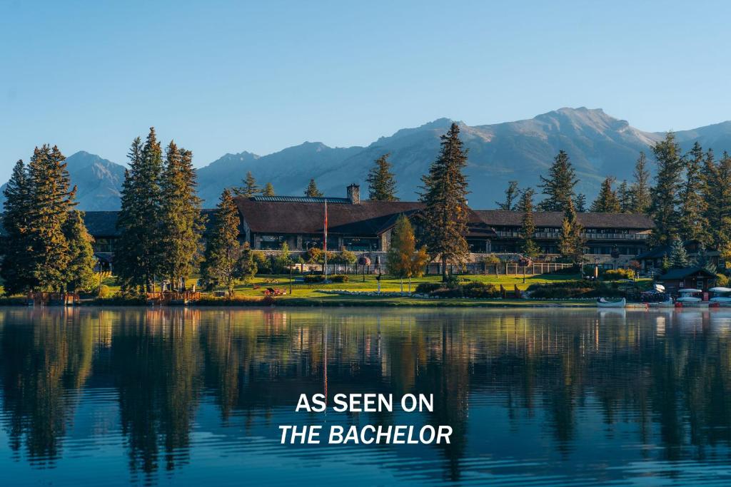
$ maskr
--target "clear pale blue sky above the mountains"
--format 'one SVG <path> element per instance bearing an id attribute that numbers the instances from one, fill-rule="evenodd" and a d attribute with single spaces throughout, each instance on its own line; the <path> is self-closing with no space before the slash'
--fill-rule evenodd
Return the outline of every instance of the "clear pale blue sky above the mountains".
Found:
<path id="1" fill-rule="evenodd" d="M 0 180 L 34 145 L 124 163 L 366 145 L 601 107 L 650 131 L 731 119 L 728 1 L 0 0 Z"/>

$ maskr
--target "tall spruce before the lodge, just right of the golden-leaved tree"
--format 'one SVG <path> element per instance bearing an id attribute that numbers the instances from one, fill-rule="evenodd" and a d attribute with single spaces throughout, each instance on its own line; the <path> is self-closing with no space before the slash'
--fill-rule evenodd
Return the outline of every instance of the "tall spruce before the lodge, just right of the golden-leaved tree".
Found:
<path id="1" fill-rule="evenodd" d="M 425 203 L 423 212 L 423 242 L 432 258 L 442 261 L 442 280 L 448 277 L 448 264 L 463 264 L 469 254 L 467 233 L 467 179 L 463 169 L 467 153 L 459 138 L 459 126 L 452 123 L 442 135 L 439 157 L 422 177 Z"/>

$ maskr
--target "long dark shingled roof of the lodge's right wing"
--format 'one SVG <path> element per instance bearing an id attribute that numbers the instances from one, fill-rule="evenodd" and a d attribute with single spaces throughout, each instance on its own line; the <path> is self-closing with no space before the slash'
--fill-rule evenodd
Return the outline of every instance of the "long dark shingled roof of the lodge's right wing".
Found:
<path id="1" fill-rule="evenodd" d="M 491 226 L 520 226 L 523 212 L 506 210 L 474 210 L 482 221 Z M 654 228 L 652 219 L 647 215 L 632 213 L 577 213 L 579 223 L 586 229 L 636 229 Z M 562 212 L 534 212 L 536 226 L 560 228 L 564 221 Z"/>

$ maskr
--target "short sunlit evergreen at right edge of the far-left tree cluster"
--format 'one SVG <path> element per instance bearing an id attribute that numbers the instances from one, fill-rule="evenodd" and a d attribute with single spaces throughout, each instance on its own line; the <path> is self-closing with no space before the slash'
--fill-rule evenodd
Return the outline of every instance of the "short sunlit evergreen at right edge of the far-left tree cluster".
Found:
<path id="1" fill-rule="evenodd" d="M 69 242 L 69 263 L 64 277 L 66 291 L 91 291 L 96 285 L 96 257 L 91 246 L 94 238 L 86 230 L 83 214 L 79 210 L 69 213 L 64 223 L 64 236 Z"/>

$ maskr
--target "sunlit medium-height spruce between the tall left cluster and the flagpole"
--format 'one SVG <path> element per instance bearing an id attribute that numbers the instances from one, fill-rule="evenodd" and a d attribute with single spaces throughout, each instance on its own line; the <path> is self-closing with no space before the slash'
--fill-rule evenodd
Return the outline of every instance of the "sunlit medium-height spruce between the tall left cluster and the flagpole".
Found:
<path id="1" fill-rule="evenodd" d="M 200 276 L 206 286 L 224 286 L 229 297 L 233 296 L 240 268 L 239 226 L 238 209 L 230 191 L 225 189 L 206 241 Z"/>

